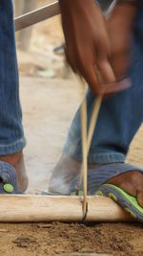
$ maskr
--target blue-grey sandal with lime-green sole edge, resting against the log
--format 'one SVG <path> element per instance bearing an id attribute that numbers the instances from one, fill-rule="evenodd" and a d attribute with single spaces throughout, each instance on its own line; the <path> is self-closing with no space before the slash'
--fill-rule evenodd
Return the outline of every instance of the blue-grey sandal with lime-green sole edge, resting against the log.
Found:
<path id="1" fill-rule="evenodd" d="M 119 203 L 136 220 L 143 221 L 143 208 L 138 204 L 136 198 L 133 198 L 128 193 L 116 186 L 113 186 L 112 184 L 105 184 L 113 176 L 134 170 L 143 173 L 142 169 L 125 163 L 112 163 L 90 170 L 88 172 L 88 195 L 102 195 L 110 197 Z M 75 195 L 78 181 L 79 176 L 76 176 L 71 186 L 72 195 Z M 80 191 L 82 191 L 82 188 L 83 184 L 81 184 Z"/>

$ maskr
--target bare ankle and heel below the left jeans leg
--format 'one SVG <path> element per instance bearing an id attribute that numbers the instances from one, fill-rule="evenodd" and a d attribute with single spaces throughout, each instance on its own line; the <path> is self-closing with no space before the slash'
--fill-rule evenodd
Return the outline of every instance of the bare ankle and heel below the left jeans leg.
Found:
<path id="1" fill-rule="evenodd" d="M 28 187 L 28 176 L 26 174 L 23 152 L 19 151 L 9 155 L 1 155 L 0 161 L 7 162 L 15 168 L 18 179 L 18 190 L 19 192 L 25 192 Z"/>

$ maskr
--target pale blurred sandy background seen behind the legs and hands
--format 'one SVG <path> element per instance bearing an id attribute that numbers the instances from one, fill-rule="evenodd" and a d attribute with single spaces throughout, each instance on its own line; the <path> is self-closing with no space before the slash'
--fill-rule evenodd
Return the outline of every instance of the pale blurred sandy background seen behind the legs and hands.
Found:
<path id="1" fill-rule="evenodd" d="M 51 4 L 53 0 L 14 0 L 15 16 Z M 102 3 L 105 5 L 107 1 Z M 83 99 L 83 88 L 66 63 L 60 15 L 16 33 L 23 123 L 28 145 L 24 151 L 30 183 L 28 193 L 48 187 L 72 117 Z M 133 141 L 128 161 L 143 165 L 143 128 Z"/>

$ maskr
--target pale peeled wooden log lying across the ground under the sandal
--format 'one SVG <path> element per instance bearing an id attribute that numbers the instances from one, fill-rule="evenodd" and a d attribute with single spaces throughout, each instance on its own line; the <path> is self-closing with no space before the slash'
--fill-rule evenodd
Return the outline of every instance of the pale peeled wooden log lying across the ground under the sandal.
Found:
<path id="1" fill-rule="evenodd" d="M 133 221 L 111 198 L 88 197 L 86 221 Z M 0 222 L 82 221 L 82 201 L 66 196 L 0 196 Z"/>

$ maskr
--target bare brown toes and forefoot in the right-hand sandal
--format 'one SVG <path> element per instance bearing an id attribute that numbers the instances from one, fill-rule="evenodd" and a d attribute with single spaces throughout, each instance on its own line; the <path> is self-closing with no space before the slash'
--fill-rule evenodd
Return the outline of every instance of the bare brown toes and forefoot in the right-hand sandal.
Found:
<path id="1" fill-rule="evenodd" d="M 143 207 L 143 174 L 141 172 L 134 170 L 117 175 L 107 183 L 118 186 L 134 198 L 137 198 L 138 204 Z"/>

